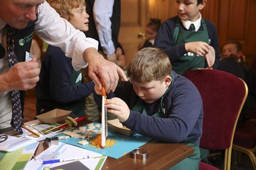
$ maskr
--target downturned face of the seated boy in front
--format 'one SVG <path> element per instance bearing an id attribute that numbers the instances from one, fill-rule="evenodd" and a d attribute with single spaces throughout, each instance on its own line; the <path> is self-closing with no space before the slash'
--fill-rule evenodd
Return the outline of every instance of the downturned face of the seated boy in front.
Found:
<path id="1" fill-rule="evenodd" d="M 131 81 L 131 80 L 130 80 Z M 146 103 L 154 103 L 154 101 L 161 98 L 167 88 L 171 84 L 171 77 L 167 75 L 163 81 L 150 81 L 146 83 L 141 83 L 137 81 L 131 81 L 133 85 L 133 90 L 135 93 Z"/>

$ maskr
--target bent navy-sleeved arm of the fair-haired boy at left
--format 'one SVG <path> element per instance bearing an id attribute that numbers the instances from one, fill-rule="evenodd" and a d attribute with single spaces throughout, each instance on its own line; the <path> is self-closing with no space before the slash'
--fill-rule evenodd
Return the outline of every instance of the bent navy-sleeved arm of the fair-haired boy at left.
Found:
<path id="1" fill-rule="evenodd" d="M 77 86 L 70 86 L 72 66 L 60 48 L 54 47 L 50 56 L 50 94 L 59 103 L 69 103 L 82 99 L 94 91 L 94 83 L 89 82 Z"/>

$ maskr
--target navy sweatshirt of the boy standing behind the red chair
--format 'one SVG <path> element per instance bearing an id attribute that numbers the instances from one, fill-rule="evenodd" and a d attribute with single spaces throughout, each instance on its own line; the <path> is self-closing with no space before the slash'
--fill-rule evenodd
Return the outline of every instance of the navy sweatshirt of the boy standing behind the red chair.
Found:
<path id="1" fill-rule="evenodd" d="M 166 20 L 163 22 L 161 27 L 158 30 L 157 37 L 155 40 L 154 46 L 157 48 L 162 49 L 168 56 L 171 61 L 171 63 L 179 60 L 179 57 L 183 56 L 184 54 L 187 53 L 185 44 L 181 45 L 172 45 L 172 40 L 173 40 L 173 33 L 175 29 L 175 23 L 176 20 L 179 16 L 174 16 L 171 19 Z M 204 19 L 210 39 L 210 46 L 212 46 L 215 50 L 215 61 L 213 64 L 213 69 L 217 69 L 218 63 L 220 60 L 220 50 L 219 50 L 219 40 L 218 40 L 218 34 L 215 25 Z M 181 23 L 180 25 L 180 30 L 187 30 Z M 198 31 L 202 31 L 203 25 L 199 27 Z"/>

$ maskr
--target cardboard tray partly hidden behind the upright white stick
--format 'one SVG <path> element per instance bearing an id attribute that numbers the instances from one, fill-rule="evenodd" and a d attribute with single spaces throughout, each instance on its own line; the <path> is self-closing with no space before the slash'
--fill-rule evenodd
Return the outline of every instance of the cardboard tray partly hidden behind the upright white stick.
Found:
<path id="1" fill-rule="evenodd" d="M 114 120 L 109 120 L 108 125 L 111 130 L 122 133 L 126 136 L 130 136 L 133 133 L 131 129 L 126 128 L 126 126 L 123 126 L 123 124 L 119 122 L 118 118 Z"/>

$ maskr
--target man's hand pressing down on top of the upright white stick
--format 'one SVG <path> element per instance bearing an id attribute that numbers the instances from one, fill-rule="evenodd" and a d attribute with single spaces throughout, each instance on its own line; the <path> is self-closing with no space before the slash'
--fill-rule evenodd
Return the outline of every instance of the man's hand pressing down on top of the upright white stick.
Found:
<path id="1" fill-rule="evenodd" d="M 106 92 L 115 91 L 118 83 L 118 74 L 123 81 L 127 81 L 125 73 L 115 63 L 109 62 L 100 55 L 95 48 L 87 48 L 83 53 L 84 60 L 89 64 L 89 77 L 101 89 L 101 82 Z"/>

